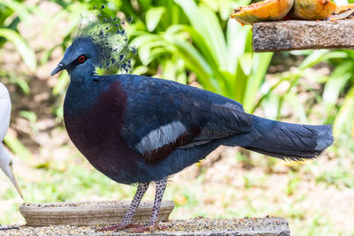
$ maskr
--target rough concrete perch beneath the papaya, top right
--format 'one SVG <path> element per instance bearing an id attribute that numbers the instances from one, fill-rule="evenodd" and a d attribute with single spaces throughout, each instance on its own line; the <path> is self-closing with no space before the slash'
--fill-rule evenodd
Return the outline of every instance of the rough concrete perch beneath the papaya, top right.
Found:
<path id="1" fill-rule="evenodd" d="M 287 20 L 253 25 L 255 52 L 298 49 L 354 49 L 354 19 Z"/>

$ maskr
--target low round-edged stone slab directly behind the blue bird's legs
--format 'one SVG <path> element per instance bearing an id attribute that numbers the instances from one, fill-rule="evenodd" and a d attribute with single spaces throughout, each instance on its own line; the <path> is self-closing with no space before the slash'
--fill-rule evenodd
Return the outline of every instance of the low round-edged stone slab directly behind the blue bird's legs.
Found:
<path id="1" fill-rule="evenodd" d="M 129 201 L 23 203 L 19 212 L 27 226 L 49 225 L 115 225 L 125 216 Z M 143 201 L 136 209 L 133 222 L 149 222 L 152 201 Z M 173 201 L 162 201 L 159 221 L 167 221 L 174 208 Z"/>

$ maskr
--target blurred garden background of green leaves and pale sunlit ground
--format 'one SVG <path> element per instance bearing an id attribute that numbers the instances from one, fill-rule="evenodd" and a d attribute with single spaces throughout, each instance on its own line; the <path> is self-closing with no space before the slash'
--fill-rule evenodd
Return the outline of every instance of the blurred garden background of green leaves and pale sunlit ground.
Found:
<path id="1" fill-rule="evenodd" d="M 135 187 L 94 170 L 63 123 L 66 72 L 50 77 L 81 13 L 96 1 L 0 1 L 0 80 L 12 96 L 4 143 L 25 202 L 131 200 Z M 252 53 L 251 27 L 229 19 L 250 0 L 112 0 L 106 17 L 138 49 L 133 73 L 176 80 L 233 98 L 258 116 L 333 124 L 335 144 L 317 159 L 284 162 L 220 147 L 171 178 L 173 218 L 285 217 L 292 235 L 353 235 L 354 51 Z M 22 200 L 0 174 L 0 224 L 24 224 Z M 144 197 L 151 200 L 154 189 Z"/>

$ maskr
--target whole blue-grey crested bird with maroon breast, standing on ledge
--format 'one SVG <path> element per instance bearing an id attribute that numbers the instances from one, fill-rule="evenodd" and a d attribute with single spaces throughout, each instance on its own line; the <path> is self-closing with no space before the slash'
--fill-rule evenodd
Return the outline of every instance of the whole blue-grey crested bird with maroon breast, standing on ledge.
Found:
<path id="1" fill-rule="evenodd" d="M 150 181 L 157 182 L 161 190 L 150 219 L 150 225 L 155 225 L 165 179 L 219 145 L 302 160 L 318 156 L 333 142 L 331 126 L 259 118 L 232 99 L 171 80 L 131 74 L 98 76 L 96 66 L 119 62 L 122 71 L 130 69 L 127 53 L 135 49 L 127 45 L 114 49 L 109 38 L 113 33 L 104 34 L 104 41 L 96 34 L 99 30 L 92 26 L 84 28 L 51 75 L 67 70 L 71 77 L 64 118 L 74 145 L 109 178 L 140 183 L 119 228 L 130 224 L 136 203 L 146 191 L 145 183 Z"/>

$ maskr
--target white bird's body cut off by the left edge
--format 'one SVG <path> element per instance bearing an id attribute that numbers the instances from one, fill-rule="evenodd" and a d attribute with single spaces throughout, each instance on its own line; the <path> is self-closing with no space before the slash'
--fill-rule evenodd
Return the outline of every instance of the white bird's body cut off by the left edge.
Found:
<path id="1" fill-rule="evenodd" d="M 0 142 L 4 140 L 10 125 L 11 100 L 7 89 L 0 83 Z"/>

